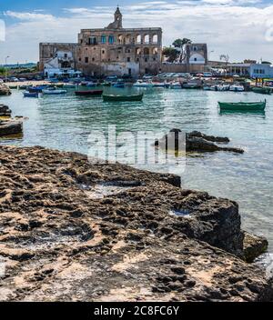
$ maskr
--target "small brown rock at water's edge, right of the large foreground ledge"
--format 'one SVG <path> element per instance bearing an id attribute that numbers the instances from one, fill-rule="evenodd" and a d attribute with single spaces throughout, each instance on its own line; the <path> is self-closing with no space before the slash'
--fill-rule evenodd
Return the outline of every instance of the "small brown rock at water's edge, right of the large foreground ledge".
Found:
<path id="1" fill-rule="evenodd" d="M 267 250 L 268 240 L 265 237 L 244 232 L 244 256 L 248 263 L 253 262 Z"/>

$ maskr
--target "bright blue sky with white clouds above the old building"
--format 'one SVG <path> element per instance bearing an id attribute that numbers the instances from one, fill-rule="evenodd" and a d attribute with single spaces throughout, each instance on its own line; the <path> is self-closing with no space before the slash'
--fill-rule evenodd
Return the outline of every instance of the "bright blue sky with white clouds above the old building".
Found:
<path id="1" fill-rule="evenodd" d="M 81 28 L 105 27 L 116 5 L 124 27 L 161 26 L 163 45 L 187 37 L 209 58 L 273 63 L 273 0 L 0 0 L 0 65 L 37 62 L 40 42 L 76 42 Z M 4 36 L 5 35 L 5 36 Z"/>

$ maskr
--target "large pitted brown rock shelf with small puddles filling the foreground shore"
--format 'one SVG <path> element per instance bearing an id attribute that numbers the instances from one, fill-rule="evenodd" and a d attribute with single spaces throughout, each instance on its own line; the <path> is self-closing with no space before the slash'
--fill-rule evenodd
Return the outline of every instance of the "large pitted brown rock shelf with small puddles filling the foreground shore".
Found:
<path id="1" fill-rule="evenodd" d="M 1 301 L 272 300 L 235 202 L 42 147 L 0 161 Z"/>

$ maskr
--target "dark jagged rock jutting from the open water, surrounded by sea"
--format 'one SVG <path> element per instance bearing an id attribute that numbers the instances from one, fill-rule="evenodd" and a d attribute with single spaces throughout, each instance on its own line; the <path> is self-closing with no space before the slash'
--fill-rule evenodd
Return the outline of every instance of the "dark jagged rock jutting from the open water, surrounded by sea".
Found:
<path id="1" fill-rule="evenodd" d="M 187 152 L 206 153 L 216 151 L 228 151 L 238 154 L 244 153 L 244 150 L 239 148 L 219 146 L 213 143 L 228 143 L 229 139 L 227 137 L 204 135 L 198 131 L 193 131 L 191 133 L 186 133 L 185 140 L 185 138 L 183 139 L 184 136 L 181 135 L 181 133 L 182 132 L 180 129 L 172 129 L 169 131 L 167 135 L 165 135 L 159 141 L 157 140 L 155 145 L 176 151 L 182 151 L 186 149 Z"/>

